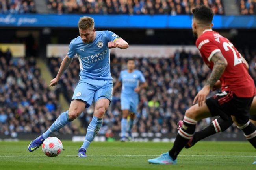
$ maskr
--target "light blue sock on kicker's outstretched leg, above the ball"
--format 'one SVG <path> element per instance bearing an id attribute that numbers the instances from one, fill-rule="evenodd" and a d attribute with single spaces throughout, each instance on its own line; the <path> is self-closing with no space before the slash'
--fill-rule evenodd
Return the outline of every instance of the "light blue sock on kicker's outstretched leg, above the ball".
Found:
<path id="1" fill-rule="evenodd" d="M 66 112 L 63 112 L 61 113 L 61 115 L 59 115 L 56 121 L 53 122 L 52 126 L 50 126 L 50 128 L 45 133 L 43 133 L 44 139 L 49 137 L 53 132 L 56 132 L 63 128 L 68 122 L 71 122 L 68 113 L 69 111 L 67 110 Z"/>

